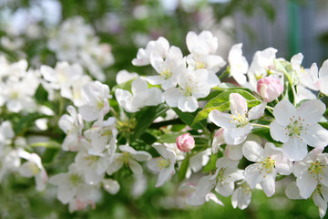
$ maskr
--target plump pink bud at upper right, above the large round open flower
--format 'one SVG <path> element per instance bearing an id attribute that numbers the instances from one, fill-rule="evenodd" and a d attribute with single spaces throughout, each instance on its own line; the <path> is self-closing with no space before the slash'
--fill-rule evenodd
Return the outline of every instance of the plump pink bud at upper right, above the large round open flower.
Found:
<path id="1" fill-rule="evenodd" d="M 278 78 L 265 77 L 259 79 L 257 91 L 265 102 L 271 102 L 282 94 L 283 86 Z"/>

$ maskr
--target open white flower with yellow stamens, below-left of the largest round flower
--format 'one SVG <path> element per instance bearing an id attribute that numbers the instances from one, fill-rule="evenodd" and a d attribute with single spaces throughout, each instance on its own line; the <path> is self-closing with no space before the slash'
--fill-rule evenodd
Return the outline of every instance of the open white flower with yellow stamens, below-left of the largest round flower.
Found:
<path id="1" fill-rule="evenodd" d="M 271 197 L 275 193 L 275 178 L 277 173 L 289 175 L 292 172 L 292 162 L 282 155 L 282 149 L 268 142 L 264 149 L 256 141 L 246 141 L 242 153 L 251 162 L 245 169 L 245 178 L 251 188 L 261 184 L 264 193 Z"/>

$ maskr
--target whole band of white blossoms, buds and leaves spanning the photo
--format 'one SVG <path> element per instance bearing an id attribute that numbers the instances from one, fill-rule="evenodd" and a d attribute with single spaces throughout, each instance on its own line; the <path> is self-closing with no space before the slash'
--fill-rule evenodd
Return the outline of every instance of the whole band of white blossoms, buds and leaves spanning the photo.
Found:
<path id="1" fill-rule="evenodd" d="M 231 196 L 234 208 L 245 209 L 254 189 L 274 195 L 279 177 L 290 182 L 287 197 L 311 197 L 325 215 L 328 122 L 322 98 L 328 95 L 328 61 L 320 69 L 302 68 L 302 54 L 287 61 L 270 47 L 249 64 L 237 44 L 226 62 L 209 31 L 190 32 L 190 54 L 159 37 L 132 60 L 134 66 L 150 65 L 154 75 L 122 70 L 109 89 L 98 80 L 104 80 L 99 69 L 111 63 L 111 55 L 101 53 L 92 29 L 74 18 L 57 36 L 49 41 L 62 60 L 55 68 L 27 70 L 25 60 L 0 58 L 1 113 L 9 115 L 0 125 L 0 181 L 19 172 L 34 177 L 38 191 L 56 185 L 58 200 L 76 211 L 94 208 L 101 189 L 118 193 L 120 176 L 133 174 L 138 181 L 154 173 L 156 187 L 180 183 L 177 195 L 190 205 L 222 204 L 220 196 Z M 235 83 L 221 82 L 224 77 Z M 29 138 L 33 134 L 46 141 Z M 48 180 L 35 148 L 49 145 L 73 158 L 66 172 L 49 168 Z"/>

